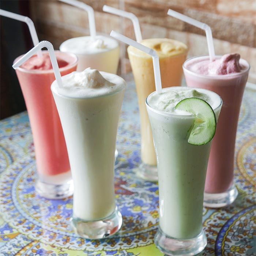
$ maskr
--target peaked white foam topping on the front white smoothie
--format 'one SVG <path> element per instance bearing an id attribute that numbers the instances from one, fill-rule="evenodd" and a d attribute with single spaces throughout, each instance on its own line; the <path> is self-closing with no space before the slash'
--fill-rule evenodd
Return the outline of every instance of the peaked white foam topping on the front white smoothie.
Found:
<path id="1" fill-rule="evenodd" d="M 120 76 L 91 68 L 86 68 L 82 72 L 74 71 L 62 76 L 61 79 L 63 88 L 59 88 L 55 80 L 52 83 L 52 90 L 74 98 L 100 97 L 118 92 L 125 87 L 125 81 Z"/>

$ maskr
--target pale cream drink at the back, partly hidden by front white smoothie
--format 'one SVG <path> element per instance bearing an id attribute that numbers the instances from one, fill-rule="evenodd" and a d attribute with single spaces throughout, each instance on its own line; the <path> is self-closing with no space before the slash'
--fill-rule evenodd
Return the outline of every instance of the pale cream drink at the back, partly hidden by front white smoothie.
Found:
<path id="1" fill-rule="evenodd" d="M 93 68 L 116 74 L 120 48 L 118 42 L 110 37 L 97 35 L 75 37 L 64 41 L 60 45 L 61 52 L 71 52 L 78 56 L 77 71 Z"/>

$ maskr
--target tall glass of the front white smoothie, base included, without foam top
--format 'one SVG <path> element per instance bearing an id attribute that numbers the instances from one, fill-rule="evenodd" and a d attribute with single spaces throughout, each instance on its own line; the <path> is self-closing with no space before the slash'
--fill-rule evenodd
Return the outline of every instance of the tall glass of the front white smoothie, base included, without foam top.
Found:
<path id="1" fill-rule="evenodd" d="M 114 152 L 124 87 L 89 98 L 61 95 L 53 85 L 52 93 L 74 180 L 74 230 L 90 239 L 112 235 L 122 223 L 114 196 Z"/>

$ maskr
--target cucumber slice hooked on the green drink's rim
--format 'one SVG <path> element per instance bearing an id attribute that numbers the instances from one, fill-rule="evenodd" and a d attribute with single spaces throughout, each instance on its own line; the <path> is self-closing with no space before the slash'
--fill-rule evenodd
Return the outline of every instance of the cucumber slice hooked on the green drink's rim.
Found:
<path id="1" fill-rule="evenodd" d="M 204 145 L 211 141 L 216 131 L 216 116 L 211 106 L 199 98 L 187 98 L 180 101 L 176 109 L 195 115 L 194 125 L 188 131 L 188 143 Z"/>

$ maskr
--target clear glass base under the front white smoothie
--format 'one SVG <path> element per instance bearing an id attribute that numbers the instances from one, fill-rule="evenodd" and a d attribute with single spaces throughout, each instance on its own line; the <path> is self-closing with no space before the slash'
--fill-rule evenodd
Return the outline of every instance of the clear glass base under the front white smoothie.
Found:
<path id="1" fill-rule="evenodd" d="M 87 239 L 99 239 L 112 236 L 122 225 L 122 215 L 117 207 L 107 218 L 97 221 L 84 221 L 79 218 L 71 218 L 75 233 Z"/>

